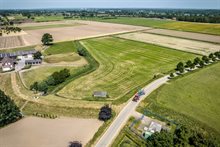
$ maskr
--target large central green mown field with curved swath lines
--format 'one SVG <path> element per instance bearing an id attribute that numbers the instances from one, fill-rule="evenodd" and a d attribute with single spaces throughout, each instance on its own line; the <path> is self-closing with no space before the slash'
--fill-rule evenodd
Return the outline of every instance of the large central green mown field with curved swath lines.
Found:
<path id="1" fill-rule="evenodd" d="M 82 44 L 100 66 L 58 92 L 71 99 L 94 100 L 94 91 L 107 91 L 110 100 L 121 98 L 152 80 L 154 75 L 173 70 L 178 62 L 195 57 L 186 52 L 113 37 L 89 39 Z"/>

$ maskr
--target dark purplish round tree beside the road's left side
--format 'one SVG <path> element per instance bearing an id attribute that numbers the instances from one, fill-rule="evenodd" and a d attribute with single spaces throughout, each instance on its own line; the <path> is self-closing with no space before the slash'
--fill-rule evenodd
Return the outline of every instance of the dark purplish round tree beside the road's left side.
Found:
<path id="1" fill-rule="evenodd" d="M 100 109 L 99 120 L 107 121 L 112 117 L 112 109 L 109 105 L 105 105 Z"/>

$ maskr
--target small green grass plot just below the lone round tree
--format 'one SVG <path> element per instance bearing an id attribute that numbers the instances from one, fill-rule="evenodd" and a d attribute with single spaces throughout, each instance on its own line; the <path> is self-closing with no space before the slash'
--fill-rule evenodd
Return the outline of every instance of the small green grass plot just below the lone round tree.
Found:
<path id="1" fill-rule="evenodd" d="M 64 53 L 71 53 L 75 52 L 76 47 L 73 41 L 68 42 L 60 42 L 54 43 L 48 49 L 45 50 L 45 55 L 54 55 L 54 54 L 64 54 Z"/>

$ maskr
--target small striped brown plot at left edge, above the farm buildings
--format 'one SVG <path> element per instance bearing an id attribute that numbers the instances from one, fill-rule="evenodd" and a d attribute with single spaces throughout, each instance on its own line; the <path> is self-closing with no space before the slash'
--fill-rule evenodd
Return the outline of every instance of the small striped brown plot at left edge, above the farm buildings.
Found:
<path id="1" fill-rule="evenodd" d="M 0 37 L 0 49 L 25 46 L 22 36 Z"/>

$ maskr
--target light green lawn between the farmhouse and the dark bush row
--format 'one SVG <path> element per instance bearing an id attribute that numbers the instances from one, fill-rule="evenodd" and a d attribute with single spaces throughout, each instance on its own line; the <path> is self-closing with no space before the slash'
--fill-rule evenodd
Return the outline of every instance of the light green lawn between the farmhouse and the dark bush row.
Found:
<path id="1" fill-rule="evenodd" d="M 74 68 L 74 67 L 42 66 L 39 68 L 35 68 L 35 69 L 22 72 L 22 77 L 24 79 L 25 85 L 27 87 L 30 87 L 30 85 L 33 84 L 34 82 L 41 82 L 45 80 L 48 76 L 53 74 L 54 72 L 60 71 L 64 68 L 69 69 L 71 74 L 73 74 L 77 70 L 77 68 Z"/>

